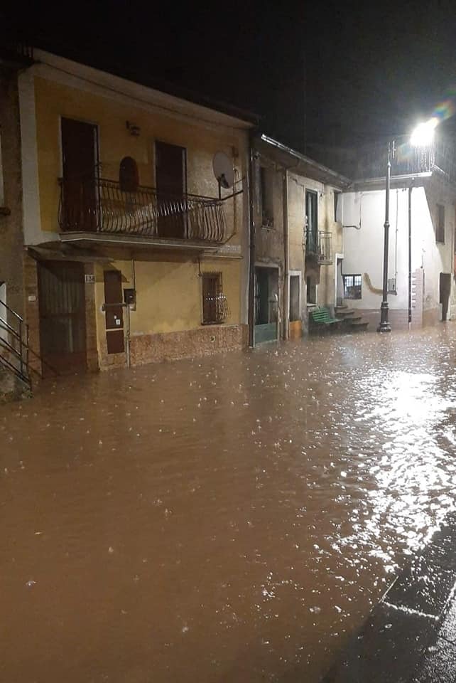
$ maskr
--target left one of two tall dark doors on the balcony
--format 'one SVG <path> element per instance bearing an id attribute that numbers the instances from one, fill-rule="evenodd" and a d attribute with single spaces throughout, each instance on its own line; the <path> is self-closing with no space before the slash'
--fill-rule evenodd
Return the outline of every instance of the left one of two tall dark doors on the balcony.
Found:
<path id="1" fill-rule="evenodd" d="M 94 231 L 97 228 L 96 126 L 62 119 L 63 230 Z"/>

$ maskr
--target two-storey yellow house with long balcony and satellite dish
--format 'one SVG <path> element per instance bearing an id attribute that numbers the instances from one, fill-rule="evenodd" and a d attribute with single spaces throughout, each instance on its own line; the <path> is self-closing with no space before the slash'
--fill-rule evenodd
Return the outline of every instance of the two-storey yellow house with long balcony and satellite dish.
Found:
<path id="1" fill-rule="evenodd" d="M 245 344 L 251 122 L 35 60 L 18 88 L 27 319 L 45 367 Z"/>

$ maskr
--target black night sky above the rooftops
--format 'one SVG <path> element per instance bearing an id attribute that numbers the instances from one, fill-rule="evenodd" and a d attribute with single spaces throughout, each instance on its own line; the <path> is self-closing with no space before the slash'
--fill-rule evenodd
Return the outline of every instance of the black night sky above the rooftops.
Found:
<path id="1" fill-rule="evenodd" d="M 428 117 L 456 83 L 455 10 L 448 0 L 184 9 L 131 0 L 15 11 L 35 43 L 251 110 L 262 129 L 305 151 L 306 142 L 401 134 Z"/>

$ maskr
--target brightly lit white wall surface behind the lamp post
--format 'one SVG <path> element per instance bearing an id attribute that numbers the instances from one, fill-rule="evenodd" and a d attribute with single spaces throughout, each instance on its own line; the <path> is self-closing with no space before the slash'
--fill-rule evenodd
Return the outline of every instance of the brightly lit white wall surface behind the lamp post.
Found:
<path id="1" fill-rule="evenodd" d="M 424 308 L 436 308 L 439 301 L 440 272 L 452 271 L 453 221 L 450 201 L 445 203 L 445 244 L 435 243 L 435 231 L 430 215 L 434 211 L 433 192 L 424 187 L 412 191 L 412 270 L 424 268 Z M 383 277 L 385 192 L 384 190 L 344 193 L 344 274 L 360 273 L 362 299 L 350 300 L 354 308 L 376 309 L 381 294 L 369 290 L 371 285 L 381 290 Z M 442 201 L 440 199 L 440 201 Z M 397 295 L 389 295 L 391 309 L 408 307 L 408 189 L 392 189 L 389 212 L 389 277 L 397 270 Z M 349 226 L 357 226 L 349 227 Z"/>

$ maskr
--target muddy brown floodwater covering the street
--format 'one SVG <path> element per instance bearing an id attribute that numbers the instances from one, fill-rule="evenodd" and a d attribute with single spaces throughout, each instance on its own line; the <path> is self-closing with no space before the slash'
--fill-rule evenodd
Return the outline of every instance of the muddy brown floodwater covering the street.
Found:
<path id="1" fill-rule="evenodd" d="M 317 682 L 445 513 L 456 326 L 0 407 L 0 680 Z"/>

